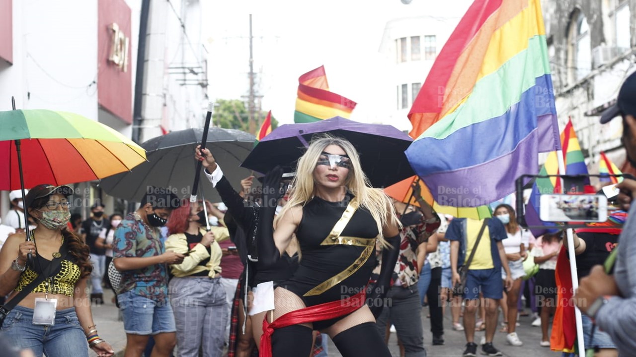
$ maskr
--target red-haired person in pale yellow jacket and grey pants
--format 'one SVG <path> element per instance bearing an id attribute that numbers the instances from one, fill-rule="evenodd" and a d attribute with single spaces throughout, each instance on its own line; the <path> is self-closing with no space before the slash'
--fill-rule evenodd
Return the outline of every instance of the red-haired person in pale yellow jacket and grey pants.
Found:
<path id="1" fill-rule="evenodd" d="M 170 304 L 177 327 L 179 356 L 204 357 L 223 354 L 228 309 L 225 288 L 221 285 L 221 247 L 218 241 L 230 238 L 223 227 L 206 231 L 207 215 L 198 205 L 186 202 L 174 210 L 167 227 L 167 250 L 185 255 L 183 262 L 172 264 Z"/>

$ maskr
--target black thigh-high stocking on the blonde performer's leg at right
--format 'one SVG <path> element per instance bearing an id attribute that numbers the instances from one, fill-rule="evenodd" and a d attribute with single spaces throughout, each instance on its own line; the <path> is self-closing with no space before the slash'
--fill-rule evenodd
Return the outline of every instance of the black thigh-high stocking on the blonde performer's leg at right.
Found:
<path id="1" fill-rule="evenodd" d="M 391 357 L 384 337 L 373 322 L 365 322 L 348 328 L 333 337 L 333 343 L 343 357 Z"/>

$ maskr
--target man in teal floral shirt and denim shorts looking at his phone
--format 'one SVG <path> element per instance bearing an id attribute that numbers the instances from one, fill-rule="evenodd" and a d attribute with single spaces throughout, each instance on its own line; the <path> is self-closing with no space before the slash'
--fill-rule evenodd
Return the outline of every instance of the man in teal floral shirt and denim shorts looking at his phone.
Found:
<path id="1" fill-rule="evenodd" d="M 170 356 L 176 344 L 167 264 L 181 264 L 185 255 L 164 248 L 160 227 L 179 206 L 172 191 L 149 186 L 139 209 L 128 214 L 115 230 L 113 264 L 121 272 L 117 299 L 128 357 L 141 357 L 150 335 L 155 340 L 155 357 Z"/>

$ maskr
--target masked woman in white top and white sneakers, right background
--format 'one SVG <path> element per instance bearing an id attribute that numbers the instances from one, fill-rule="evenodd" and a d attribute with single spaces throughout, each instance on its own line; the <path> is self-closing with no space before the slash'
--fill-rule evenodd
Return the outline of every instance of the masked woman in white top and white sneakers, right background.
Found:
<path id="1" fill-rule="evenodd" d="M 528 258 L 528 253 L 525 251 L 525 245 L 523 244 L 523 234 L 527 234 L 519 227 L 516 222 L 515 210 L 506 204 L 499 205 L 495 208 L 495 217 L 501 220 L 501 223 L 506 227 L 507 239 L 502 241 L 506 257 L 508 258 L 508 266 L 510 267 L 510 274 L 513 280 L 513 286 L 504 293 L 503 299 L 501 299 L 501 309 L 504 311 L 504 327 L 501 332 L 508 332 L 506 341 L 512 346 L 523 346 L 523 342 L 516 334 L 517 325 L 517 311 L 519 299 L 519 290 L 521 288 L 522 278 L 525 275 L 523 271 L 523 260 Z M 506 280 L 506 271 L 501 269 L 501 278 Z"/>

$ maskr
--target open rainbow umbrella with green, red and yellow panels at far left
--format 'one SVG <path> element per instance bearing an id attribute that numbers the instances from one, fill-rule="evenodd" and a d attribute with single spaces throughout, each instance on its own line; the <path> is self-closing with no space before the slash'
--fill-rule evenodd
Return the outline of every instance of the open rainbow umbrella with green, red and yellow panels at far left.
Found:
<path id="1" fill-rule="evenodd" d="M 21 151 L 22 171 L 18 165 Z M 118 131 L 70 112 L 0 112 L 0 190 L 73 184 L 129 171 L 146 151 Z"/>

